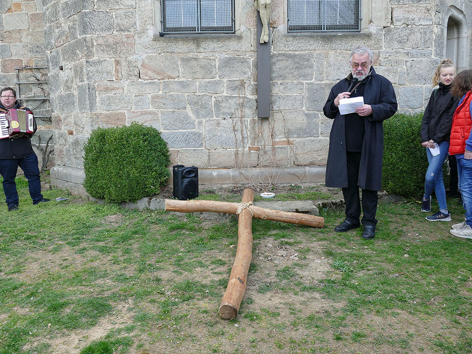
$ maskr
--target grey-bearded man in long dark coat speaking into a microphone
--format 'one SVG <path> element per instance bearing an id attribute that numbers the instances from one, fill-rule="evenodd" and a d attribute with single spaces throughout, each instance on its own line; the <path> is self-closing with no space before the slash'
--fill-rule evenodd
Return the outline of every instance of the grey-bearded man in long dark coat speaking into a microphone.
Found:
<path id="1" fill-rule="evenodd" d="M 346 218 L 335 231 L 360 227 L 362 190 L 362 224 L 364 239 L 373 239 L 377 220 L 377 191 L 382 184 L 384 150 L 383 122 L 395 114 L 397 102 L 392 83 L 376 74 L 372 52 L 366 46 L 352 50 L 351 73 L 333 86 L 323 112 L 333 119 L 326 162 L 326 186 L 341 187 L 346 203 Z M 357 79 L 357 80 L 356 80 Z M 364 97 L 364 105 L 349 114 L 339 112 L 339 100 Z"/>

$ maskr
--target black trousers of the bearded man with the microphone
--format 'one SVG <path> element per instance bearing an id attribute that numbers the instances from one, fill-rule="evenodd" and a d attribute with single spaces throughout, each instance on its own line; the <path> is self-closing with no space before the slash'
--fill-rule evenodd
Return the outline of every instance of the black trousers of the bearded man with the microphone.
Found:
<path id="1" fill-rule="evenodd" d="M 348 151 L 347 155 L 347 187 L 342 188 L 346 203 L 346 220 L 358 224 L 361 216 L 361 198 L 359 195 L 359 168 L 361 153 Z M 362 190 L 362 224 L 376 225 L 377 191 Z"/>

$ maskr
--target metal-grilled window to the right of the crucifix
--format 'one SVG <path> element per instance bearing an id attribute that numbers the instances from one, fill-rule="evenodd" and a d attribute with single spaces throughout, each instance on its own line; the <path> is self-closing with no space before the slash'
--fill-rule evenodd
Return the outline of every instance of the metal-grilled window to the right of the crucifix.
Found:
<path id="1" fill-rule="evenodd" d="M 288 32 L 360 31 L 361 0 L 288 0 Z"/>

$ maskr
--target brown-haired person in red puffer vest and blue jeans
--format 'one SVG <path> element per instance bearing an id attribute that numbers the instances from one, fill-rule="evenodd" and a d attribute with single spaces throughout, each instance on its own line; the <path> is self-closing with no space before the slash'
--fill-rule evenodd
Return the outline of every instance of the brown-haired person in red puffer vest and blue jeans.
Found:
<path id="1" fill-rule="evenodd" d="M 462 194 L 465 221 L 452 226 L 457 237 L 472 239 L 472 70 L 459 73 L 451 87 L 455 97 L 461 97 L 454 112 L 449 154 L 457 160 L 458 187 Z"/>

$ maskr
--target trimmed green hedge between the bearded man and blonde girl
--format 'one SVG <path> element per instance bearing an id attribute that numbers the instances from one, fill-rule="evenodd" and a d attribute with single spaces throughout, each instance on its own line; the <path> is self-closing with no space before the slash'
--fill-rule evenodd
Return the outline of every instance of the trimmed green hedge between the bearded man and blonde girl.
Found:
<path id="1" fill-rule="evenodd" d="M 421 146 L 422 117 L 396 113 L 384 122 L 382 188 L 388 193 L 417 198 L 424 192 L 428 159 Z"/>

